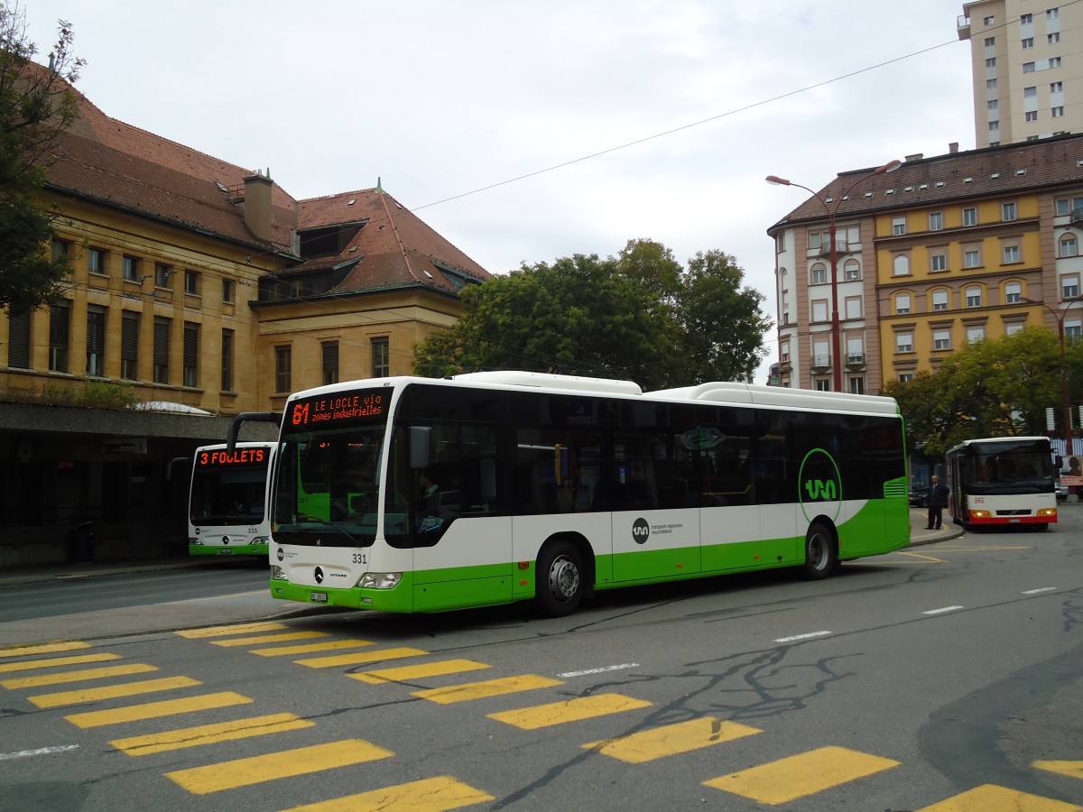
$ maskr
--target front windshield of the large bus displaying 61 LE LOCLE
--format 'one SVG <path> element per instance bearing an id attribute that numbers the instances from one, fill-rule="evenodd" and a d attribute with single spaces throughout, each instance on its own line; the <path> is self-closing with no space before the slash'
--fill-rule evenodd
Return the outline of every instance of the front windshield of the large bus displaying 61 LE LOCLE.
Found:
<path id="1" fill-rule="evenodd" d="M 373 543 L 386 429 L 387 406 L 379 391 L 292 404 L 283 424 L 275 474 L 276 542 Z"/>

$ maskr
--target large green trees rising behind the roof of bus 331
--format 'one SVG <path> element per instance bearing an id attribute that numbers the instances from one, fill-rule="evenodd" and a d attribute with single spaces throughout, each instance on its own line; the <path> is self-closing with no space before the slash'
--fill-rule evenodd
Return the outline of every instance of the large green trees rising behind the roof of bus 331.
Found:
<path id="1" fill-rule="evenodd" d="M 721 251 L 688 270 L 651 240 L 617 257 L 575 254 L 523 264 L 462 291 L 455 327 L 418 344 L 414 370 L 484 369 L 623 378 L 644 389 L 735 380 L 764 355 L 764 297 Z"/>

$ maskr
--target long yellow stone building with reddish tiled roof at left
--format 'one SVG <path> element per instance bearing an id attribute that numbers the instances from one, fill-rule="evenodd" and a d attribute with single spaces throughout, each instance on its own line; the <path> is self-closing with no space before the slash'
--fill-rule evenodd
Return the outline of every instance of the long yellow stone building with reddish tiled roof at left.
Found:
<path id="1" fill-rule="evenodd" d="M 45 187 L 65 298 L 0 312 L 0 566 L 62 560 L 82 521 L 99 558 L 185 550 L 169 460 L 291 391 L 410 372 L 488 276 L 379 183 L 298 200 L 76 95 Z M 56 405 L 110 385 L 158 406 Z"/>

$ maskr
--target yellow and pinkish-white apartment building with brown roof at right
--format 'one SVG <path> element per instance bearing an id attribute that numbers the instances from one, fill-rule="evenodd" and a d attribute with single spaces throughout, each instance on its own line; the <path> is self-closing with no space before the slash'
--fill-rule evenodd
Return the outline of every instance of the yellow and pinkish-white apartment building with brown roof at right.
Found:
<path id="1" fill-rule="evenodd" d="M 768 234 L 780 385 L 876 394 L 971 341 L 1078 336 L 1083 136 L 843 172 Z"/>

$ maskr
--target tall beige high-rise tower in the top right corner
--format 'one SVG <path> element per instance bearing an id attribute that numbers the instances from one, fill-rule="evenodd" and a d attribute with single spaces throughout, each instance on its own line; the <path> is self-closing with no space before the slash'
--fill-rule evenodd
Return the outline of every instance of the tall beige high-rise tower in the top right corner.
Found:
<path id="1" fill-rule="evenodd" d="M 963 3 L 958 38 L 970 40 L 979 148 L 1083 132 L 1083 3 Z"/>

